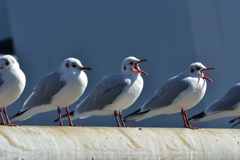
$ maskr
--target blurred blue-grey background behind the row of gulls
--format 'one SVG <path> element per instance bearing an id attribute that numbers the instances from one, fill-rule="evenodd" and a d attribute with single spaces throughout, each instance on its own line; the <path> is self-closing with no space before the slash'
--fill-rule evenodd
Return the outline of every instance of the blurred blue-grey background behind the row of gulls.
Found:
<path id="1" fill-rule="evenodd" d="M 93 71 L 88 86 L 70 111 L 104 76 L 120 73 L 128 56 L 148 59 L 140 68 L 144 88 L 123 115 L 142 106 L 169 78 L 202 62 L 215 71 L 202 101 L 187 111 L 191 117 L 222 97 L 240 82 L 240 0 L 0 0 L 0 53 L 17 56 L 27 84 L 21 97 L 7 107 L 15 115 L 43 76 L 68 57 L 78 58 Z M 62 113 L 65 109 L 62 108 Z M 59 125 L 57 111 L 35 115 L 22 125 Z M 229 128 L 233 117 L 194 124 Z M 16 122 L 15 122 L 16 123 Z M 116 126 L 114 116 L 75 120 L 85 126 Z M 68 124 L 64 121 L 64 124 Z M 159 115 L 127 125 L 183 127 L 180 113 Z"/>

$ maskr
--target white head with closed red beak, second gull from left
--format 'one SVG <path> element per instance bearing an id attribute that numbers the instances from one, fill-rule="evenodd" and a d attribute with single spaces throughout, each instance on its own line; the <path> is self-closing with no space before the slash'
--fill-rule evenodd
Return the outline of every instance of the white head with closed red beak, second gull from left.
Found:
<path id="1" fill-rule="evenodd" d="M 89 67 L 84 67 L 82 63 L 76 58 L 67 58 L 65 59 L 59 67 L 59 70 L 62 72 L 75 71 L 81 72 L 84 70 L 92 70 Z"/>

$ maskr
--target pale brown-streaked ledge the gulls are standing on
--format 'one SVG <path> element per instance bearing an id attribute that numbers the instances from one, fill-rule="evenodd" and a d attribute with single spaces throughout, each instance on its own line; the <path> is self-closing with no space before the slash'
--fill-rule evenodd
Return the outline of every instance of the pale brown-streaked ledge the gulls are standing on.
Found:
<path id="1" fill-rule="evenodd" d="M 0 159 L 240 159 L 240 130 L 0 126 Z"/>

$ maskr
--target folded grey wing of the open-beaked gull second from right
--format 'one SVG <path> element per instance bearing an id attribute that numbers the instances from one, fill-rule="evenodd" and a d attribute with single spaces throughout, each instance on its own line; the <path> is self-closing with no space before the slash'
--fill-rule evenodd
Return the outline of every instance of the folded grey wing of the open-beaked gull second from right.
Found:
<path id="1" fill-rule="evenodd" d="M 169 79 L 142 107 L 141 111 L 166 107 L 180 95 L 181 92 L 189 87 L 185 79 L 173 77 Z"/>

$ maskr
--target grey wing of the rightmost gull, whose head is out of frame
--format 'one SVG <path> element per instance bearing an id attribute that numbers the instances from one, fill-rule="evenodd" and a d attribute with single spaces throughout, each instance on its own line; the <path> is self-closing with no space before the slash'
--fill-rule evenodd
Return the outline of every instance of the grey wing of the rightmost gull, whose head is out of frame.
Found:
<path id="1" fill-rule="evenodd" d="M 207 115 L 220 111 L 234 110 L 240 102 L 240 83 L 232 87 L 221 99 L 215 101 L 204 111 Z"/>

